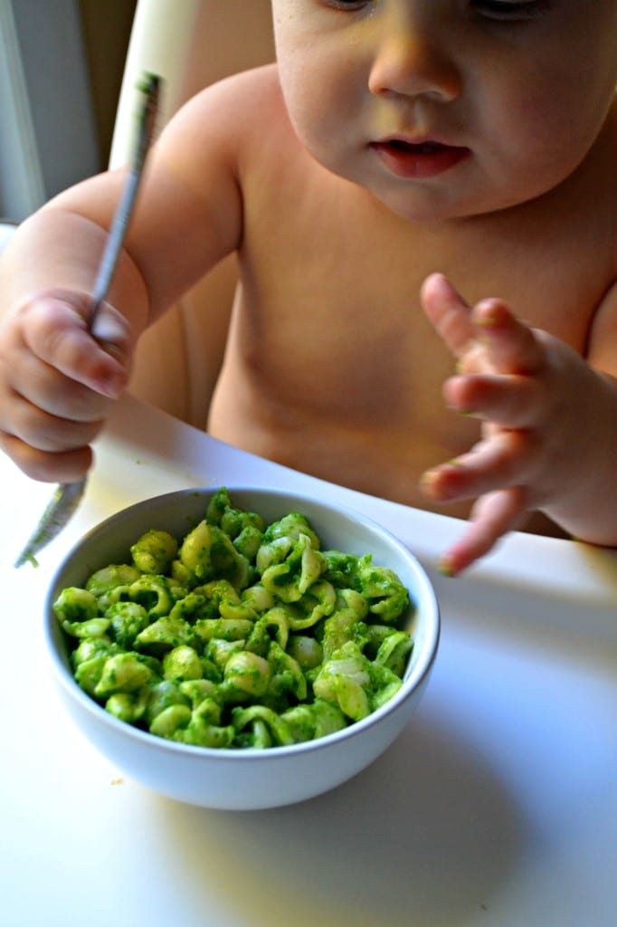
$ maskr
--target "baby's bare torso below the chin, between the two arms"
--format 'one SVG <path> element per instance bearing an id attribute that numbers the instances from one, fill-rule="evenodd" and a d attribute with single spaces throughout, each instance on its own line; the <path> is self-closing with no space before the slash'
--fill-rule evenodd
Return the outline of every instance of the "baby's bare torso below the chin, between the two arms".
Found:
<path id="1" fill-rule="evenodd" d="M 209 430 L 279 463 L 419 507 L 422 471 L 469 449 L 447 410 L 454 362 L 419 291 L 440 271 L 470 303 L 504 298 L 582 354 L 615 279 L 615 119 L 586 164 L 499 214 L 406 222 L 301 149 L 283 106 L 242 176 L 242 291 Z M 593 358 L 591 358 L 593 361 Z M 468 506 L 447 514 L 467 514 Z"/>

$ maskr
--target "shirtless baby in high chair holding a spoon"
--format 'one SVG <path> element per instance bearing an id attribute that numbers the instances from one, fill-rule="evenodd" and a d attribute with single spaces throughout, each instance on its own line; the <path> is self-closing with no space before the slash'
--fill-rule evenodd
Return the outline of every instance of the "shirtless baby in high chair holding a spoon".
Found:
<path id="1" fill-rule="evenodd" d="M 158 139 L 97 339 L 122 171 L 14 235 L 0 446 L 83 476 L 145 327 L 235 252 L 211 434 L 412 506 L 475 500 L 452 575 L 532 513 L 617 545 L 617 0 L 272 12 L 276 65 Z"/>

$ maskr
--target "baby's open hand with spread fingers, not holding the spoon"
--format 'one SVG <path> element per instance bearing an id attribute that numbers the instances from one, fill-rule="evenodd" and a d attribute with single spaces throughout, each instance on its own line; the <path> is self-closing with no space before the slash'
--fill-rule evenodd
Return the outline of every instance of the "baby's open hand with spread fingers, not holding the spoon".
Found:
<path id="1" fill-rule="evenodd" d="M 422 286 L 424 310 L 458 359 L 444 386 L 448 406 L 482 420 L 468 453 L 422 477 L 435 502 L 476 499 L 471 523 L 442 559 L 455 576 L 488 552 L 532 509 L 572 491 L 585 471 L 582 423 L 589 418 L 590 371 L 557 338 L 518 321 L 499 299 L 470 309 L 441 274 Z"/>

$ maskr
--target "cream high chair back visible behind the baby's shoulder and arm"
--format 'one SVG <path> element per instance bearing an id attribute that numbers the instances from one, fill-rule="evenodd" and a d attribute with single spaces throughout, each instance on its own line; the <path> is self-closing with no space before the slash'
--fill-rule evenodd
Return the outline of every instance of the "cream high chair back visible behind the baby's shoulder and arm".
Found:
<path id="1" fill-rule="evenodd" d="M 110 166 L 128 159 L 135 83 L 144 71 L 164 80 L 161 126 L 198 90 L 274 57 L 270 0 L 139 0 L 120 92 Z M 208 273 L 140 342 L 133 395 L 205 428 L 219 375 L 236 285 L 235 259 Z M 200 311 L 214 303 L 215 313 Z M 208 327 L 204 319 L 208 318 Z"/>

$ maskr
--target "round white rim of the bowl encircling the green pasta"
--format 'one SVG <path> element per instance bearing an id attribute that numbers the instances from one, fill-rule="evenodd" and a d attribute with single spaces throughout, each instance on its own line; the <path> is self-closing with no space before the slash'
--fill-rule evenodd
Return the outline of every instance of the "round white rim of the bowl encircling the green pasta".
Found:
<path id="1" fill-rule="evenodd" d="M 310 741 L 300 741 L 299 743 L 290 743 L 285 745 L 273 745 L 263 749 L 206 747 L 191 743 L 179 743 L 178 741 L 173 741 L 165 737 L 158 737 L 156 734 L 151 733 L 149 730 L 142 730 L 141 728 L 137 728 L 127 721 L 121 721 L 119 718 L 114 717 L 109 712 L 107 712 L 105 707 L 103 705 L 99 705 L 99 703 L 96 702 L 90 695 L 88 695 L 87 692 L 84 692 L 77 681 L 70 674 L 69 668 L 65 665 L 57 646 L 57 638 L 59 639 L 63 635 L 66 635 L 66 632 L 57 623 L 57 618 L 54 615 L 52 605 L 55 601 L 55 597 L 57 596 L 57 588 L 59 587 L 58 578 L 69 565 L 71 559 L 75 555 L 75 552 L 77 552 L 77 549 L 81 547 L 85 541 L 93 539 L 95 540 L 97 534 L 106 532 L 110 523 L 115 521 L 119 516 L 128 517 L 135 509 L 141 508 L 147 503 L 165 503 L 168 501 L 170 502 L 171 499 L 180 500 L 187 497 L 199 497 L 202 495 L 210 497 L 215 492 L 217 492 L 218 489 L 223 487 L 229 492 L 232 498 L 232 502 L 234 493 L 255 493 L 256 495 L 262 494 L 269 497 L 281 497 L 282 499 L 293 498 L 300 505 L 302 502 L 308 502 L 311 505 L 317 505 L 326 513 L 332 512 L 336 514 L 343 514 L 347 519 L 350 519 L 354 522 L 359 522 L 363 524 L 364 527 L 368 527 L 372 533 L 381 535 L 383 540 L 386 540 L 388 544 L 397 548 L 398 552 L 401 552 L 408 560 L 411 572 L 420 582 L 420 588 L 422 589 L 422 602 L 425 604 L 425 607 L 428 608 L 428 614 L 431 620 L 428 627 L 427 640 L 423 644 L 425 655 L 419 664 L 414 667 L 414 672 L 409 674 L 408 677 L 403 678 L 400 689 L 398 689 L 392 698 L 390 698 L 384 705 L 376 708 L 369 715 L 361 718 L 359 721 L 351 722 L 346 726 L 346 728 L 335 730 L 332 733 L 325 734 L 322 737 L 318 737 Z M 256 509 L 256 511 L 258 510 Z M 179 756 L 203 757 L 204 759 L 208 758 L 218 762 L 227 762 L 231 758 L 242 757 L 243 762 L 264 763 L 275 756 L 296 756 L 298 754 L 305 754 L 307 752 L 312 753 L 316 750 L 323 750 L 327 749 L 328 747 L 333 747 L 336 744 L 344 744 L 350 738 L 358 737 L 365 730 L 370 729 L 374 725 L 378 724 L 384 718 L 397 713 L 397 711 L 400 710 L 407 702 L 413 692 L 422 689 L 423 684 L 433 669 L 434 661 L 439 649 L 440 638 L 441 614 L 439 602 L 434 590 L 434 585 L 416 555 L 409 550 L 407 545 L 404 544 L 402 540 L 399 540 L 392 531 L 383 525 L 380 525 L 379 522 L 371 518 L 370 515 L 365 515 L 361 512 L 358 512 L 350 506 L 324 501 L 315 496 L 310 496 L 305 492 L 296 492 L 294 490 L 280 489 L 278 487 L 250 486 L 246 484 L 231 483 L 216 484 L 212 486 L 204 485 L 187 489 L 175 489 L 170 492 L 159 493 L 156 496 L 148 497 L 146 499 L 140 500 L 139 502 L 132 502 L 131 505 L 125 506 L 113 514 L 107 515 L 107 517 L 101 522 L 98 522 L 96 525 L 89 528 L 82 535 L 82 537 L 72 545 L 69 552 L 65 554 L 61 562 L 57 565 L 44 597 L 45 649 L 48 659 L 51 662 L 53 674 L 64 692 L 66 692 L 67 696 L 73 700 L 76 699 L 82 709 L 86 710 L 87 713 L 94 718 L 94 721 L 97 724 L 108 725 L 111 730 L 123 736 L 134 738 L 137 743 L 144 743 L 145 746 L 149 748 L 158 749 L 165 753 L 171 752 L 172 755 L 177 754 Z"/>

